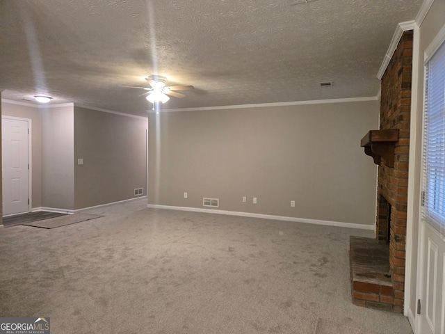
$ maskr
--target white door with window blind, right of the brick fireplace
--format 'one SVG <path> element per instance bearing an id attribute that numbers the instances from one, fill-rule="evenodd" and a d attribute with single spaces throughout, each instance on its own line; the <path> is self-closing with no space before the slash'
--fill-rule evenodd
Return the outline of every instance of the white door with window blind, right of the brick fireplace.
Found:
<path id="1" fill-rule="evenodd" d="M 431 52 L 425 65 L 419 333 L 444 334 L 445 43 Z"/>

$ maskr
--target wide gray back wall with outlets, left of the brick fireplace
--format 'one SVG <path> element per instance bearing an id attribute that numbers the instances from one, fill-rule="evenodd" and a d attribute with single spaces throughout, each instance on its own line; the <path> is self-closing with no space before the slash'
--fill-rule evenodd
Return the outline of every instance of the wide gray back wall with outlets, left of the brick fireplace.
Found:
<path id="1" fill-rule="evenodd" d="M 210 197 L 221 210 L 372 225 L 376 166 L 360 139 L 378 128 L 378 108 L 369 101 L 151 113 L 149 204 L 202 208 Z"/>

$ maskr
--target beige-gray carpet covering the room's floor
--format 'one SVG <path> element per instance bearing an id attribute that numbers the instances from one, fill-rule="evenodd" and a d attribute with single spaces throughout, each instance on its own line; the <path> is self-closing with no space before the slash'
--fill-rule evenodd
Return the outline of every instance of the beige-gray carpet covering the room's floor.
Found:
<path id="1" fill-rule="evenodd" d="M 0 230 L 1 317 L 51 333 L 412 333 L 353 305 L 349 237 L 372 232 L 147 209 L 45 230 Z"/>

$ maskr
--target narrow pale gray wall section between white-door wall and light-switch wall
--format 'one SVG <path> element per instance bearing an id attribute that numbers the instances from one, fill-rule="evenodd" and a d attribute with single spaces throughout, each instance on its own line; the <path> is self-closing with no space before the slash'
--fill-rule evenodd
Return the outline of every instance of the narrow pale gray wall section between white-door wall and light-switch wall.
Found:
<path id="1" fill-rule="evenodd" d="M 73 106 L 41 107 L 42 207 L 74 209 Z"/>

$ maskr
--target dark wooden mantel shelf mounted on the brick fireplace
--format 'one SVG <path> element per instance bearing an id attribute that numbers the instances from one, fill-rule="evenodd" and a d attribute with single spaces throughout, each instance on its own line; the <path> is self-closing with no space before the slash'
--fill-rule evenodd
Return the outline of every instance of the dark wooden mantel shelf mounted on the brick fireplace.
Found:
<path id="1" fill-rule="evenodd" d="M 360 141 L 366 155 L 373 157 L 374 164 L 394 167 L 394 146 L 398 142 L 398 130 L 371 130 Z"/>

